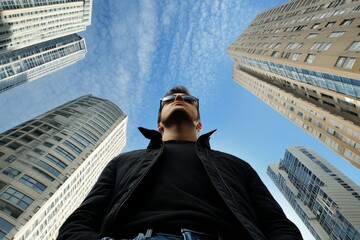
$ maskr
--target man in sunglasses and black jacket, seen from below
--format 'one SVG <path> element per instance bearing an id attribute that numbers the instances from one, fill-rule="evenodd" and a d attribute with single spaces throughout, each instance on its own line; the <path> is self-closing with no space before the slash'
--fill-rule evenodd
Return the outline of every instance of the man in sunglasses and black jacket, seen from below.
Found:
<path id="1" fill-rule="evenodd" d="M 183 86 L 160 100 L 145 150 L 103 170 L 58 239 L 302 239 L 254 169 L 198 138 L 199 100 Z"/>

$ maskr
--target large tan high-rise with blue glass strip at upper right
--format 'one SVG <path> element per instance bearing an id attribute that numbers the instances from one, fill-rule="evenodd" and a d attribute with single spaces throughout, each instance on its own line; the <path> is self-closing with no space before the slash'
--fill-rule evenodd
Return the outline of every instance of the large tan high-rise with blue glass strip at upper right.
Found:
<path id="1" fill-rule="evenodd" d="M 360 168 L 360 6 L 293 0 L 228 47 L 234 80 Z"/>

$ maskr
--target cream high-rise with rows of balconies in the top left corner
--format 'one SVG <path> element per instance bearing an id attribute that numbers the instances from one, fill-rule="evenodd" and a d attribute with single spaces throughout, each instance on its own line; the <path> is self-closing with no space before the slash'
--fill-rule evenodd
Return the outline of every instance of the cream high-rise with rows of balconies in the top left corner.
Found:
<path id="1" fill-rule="evenodd" d="M 0 53 L 84 31 L 91 0 L 3 0 Z"/>

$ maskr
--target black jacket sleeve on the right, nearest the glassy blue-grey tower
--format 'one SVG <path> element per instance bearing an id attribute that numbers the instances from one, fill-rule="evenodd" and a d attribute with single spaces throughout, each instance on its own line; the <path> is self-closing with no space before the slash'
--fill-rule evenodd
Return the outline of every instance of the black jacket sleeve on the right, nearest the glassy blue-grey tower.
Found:
<path id="1" fill-rule="evenodd" d="M 260 227 L 267 239 L 303 239 L 299 229 L 286 217 L 259 175 L 250 166 L 247 169 L 247 178 L 249 196 L 258 216 Z"/>

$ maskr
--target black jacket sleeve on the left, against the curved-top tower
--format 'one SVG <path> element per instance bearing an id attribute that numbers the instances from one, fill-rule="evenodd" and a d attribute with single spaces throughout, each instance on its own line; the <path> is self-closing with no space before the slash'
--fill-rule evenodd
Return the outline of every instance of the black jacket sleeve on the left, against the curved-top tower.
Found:
<path id="1" fill-rule="evenodd" d="M 85 200 L 61 226 L 58 240 L 99 239 L 100 228 L 114 192 L 114 162 L 108 163 Z"/>

